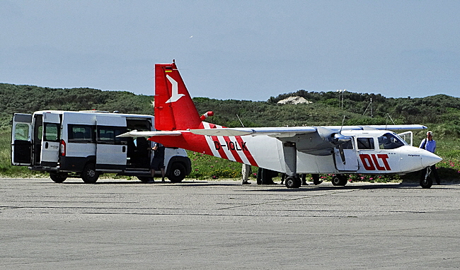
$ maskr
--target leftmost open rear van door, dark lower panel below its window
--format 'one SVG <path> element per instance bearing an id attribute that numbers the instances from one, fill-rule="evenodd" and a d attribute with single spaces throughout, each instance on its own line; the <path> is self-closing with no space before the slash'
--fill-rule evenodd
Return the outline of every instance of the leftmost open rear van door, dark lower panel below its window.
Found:
<path id="1" fill-rule="evenodd" d="M 13 115 L 11 127 L 11 164 L 32 165 L 32 115 Z"/>

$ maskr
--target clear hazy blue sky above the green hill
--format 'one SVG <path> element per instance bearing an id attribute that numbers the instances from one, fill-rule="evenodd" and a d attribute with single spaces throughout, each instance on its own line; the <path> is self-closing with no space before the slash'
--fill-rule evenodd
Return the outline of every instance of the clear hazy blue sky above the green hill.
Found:
<path id="1" fill-rule="evenodd" d="M 460 1 L 0 0 L 0 83 L 192 97 L 460 97 Z"/>

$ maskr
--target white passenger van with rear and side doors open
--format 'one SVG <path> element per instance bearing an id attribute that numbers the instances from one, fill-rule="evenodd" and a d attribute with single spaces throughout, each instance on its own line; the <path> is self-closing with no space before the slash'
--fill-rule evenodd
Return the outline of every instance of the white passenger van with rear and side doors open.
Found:
<path id="1" fill-rule="evenodd" d="M 154 131 L 154 117 L 98 111 L 16 113 L 11 163 L 50 172 L 54 182 L 78 176 L 85 183 L 95 183 L 104 172 L 147 182 L 154 155 L 152 142 L 144 137 L 117 138 L 134 129 Z M 190 159 L 181 148 L 166 148 L 164 164 L 171 182 L 182 181 L 191 171 Z"/>

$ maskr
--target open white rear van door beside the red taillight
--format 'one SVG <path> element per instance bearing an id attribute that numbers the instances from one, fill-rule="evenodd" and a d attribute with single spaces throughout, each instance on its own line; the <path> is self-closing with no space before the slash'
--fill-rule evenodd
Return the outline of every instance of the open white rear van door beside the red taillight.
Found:
<path id="1" fill-rule="evenodd" d="M 59 160 L 61 117 L 56 113 L 44 112 L 42 119 L 41 165 L 55 167 Z"/>

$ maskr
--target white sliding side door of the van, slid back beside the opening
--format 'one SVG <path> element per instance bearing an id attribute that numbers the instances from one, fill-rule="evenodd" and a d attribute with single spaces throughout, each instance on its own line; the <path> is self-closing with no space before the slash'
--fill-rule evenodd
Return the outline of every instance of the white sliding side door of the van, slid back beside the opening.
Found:
<path id="1" fill-rule="evenodd" d="M 126 118 L 96 115 L 96 170 L 125 170 L 127 139 L 117 138 L 126 132 Z"/>

